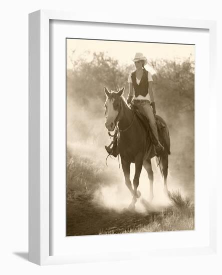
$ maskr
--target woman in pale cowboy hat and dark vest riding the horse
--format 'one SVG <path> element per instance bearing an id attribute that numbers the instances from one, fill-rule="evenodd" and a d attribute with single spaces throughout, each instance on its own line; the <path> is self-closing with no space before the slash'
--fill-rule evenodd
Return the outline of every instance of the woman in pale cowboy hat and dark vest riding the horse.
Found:
<path id="1" fill-rule="evenodd" d="M 144 68 L 147 59 L 141 52 L 136 52 L 133 61 L 136 70 L 129 74 L 129 94 L 127 103 L 133 104 L 148 118 L 156 154 L 159 155 L 164 150 L 164 147 L 159 142 L 157 125 L 154 117 L 156 114 L 156 107 L 152 90 L 152 75 Z M 117 132 L 118 131 L 115 132 L 114 139 L 110 145 L 105 146 L 107 152 L 115 157 L 118 155 Z M 111 148 L 112 144 L 113 147 Z"/>

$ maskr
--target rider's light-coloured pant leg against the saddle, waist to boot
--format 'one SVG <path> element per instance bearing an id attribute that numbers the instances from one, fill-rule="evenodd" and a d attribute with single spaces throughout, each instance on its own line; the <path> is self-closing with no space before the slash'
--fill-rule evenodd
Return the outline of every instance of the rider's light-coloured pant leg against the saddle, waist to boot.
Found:
<path id="1" fill-rule="evenodd" d="M 149 125 L 151 131 L 153 133 L 153 140 L 154 144 L 157 145 L 159 143 L 158 132 L 157 132 L 157 125 L 156 120 L 153 115 L 153 110 L 149 102 L 142 102 L 142 103 L 133 103 L 135 106 L 138 107 L 139 111 L 143 113 L 149 120 Z"/>

